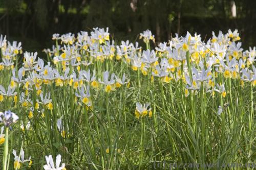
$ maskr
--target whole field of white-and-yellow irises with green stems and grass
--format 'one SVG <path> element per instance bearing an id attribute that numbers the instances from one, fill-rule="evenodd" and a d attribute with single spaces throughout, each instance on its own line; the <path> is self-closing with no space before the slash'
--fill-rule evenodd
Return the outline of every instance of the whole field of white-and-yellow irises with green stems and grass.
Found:
<path id="1" fill-rule="evenodd" d="M 1 35 L 1 169 L 255 163 L 255 47 L 237 30 L 139 37 L 54 34 L 38 58 Z"/>

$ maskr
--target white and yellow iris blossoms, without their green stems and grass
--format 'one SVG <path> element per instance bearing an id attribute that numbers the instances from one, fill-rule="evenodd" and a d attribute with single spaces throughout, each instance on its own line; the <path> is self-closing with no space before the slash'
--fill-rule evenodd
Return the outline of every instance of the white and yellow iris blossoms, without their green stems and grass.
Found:
<path id="1" fill-rule="evenodd" d="M 152 84 L 180 84 L 183 90 L 181 94 L 185 98 L 199 92 L 210 93 L 212 97 L 217 92 L 218 96 L 226 98 L 229 80 L 239 81 L 242 88 L 245 84 L 256 85 L 255 47 L 244 51 L 237 30 L 228 30 L 226 34 L 212 32 L 212 37 L 205 42 L 197 34 L 187 32 L 184 37 L 176 34 L 168 43 L 159 43 L 153 50 L 149 46 L 152 41 L 155 42 L 151 31 L 144 31 L 140 38 L 146 43 L 146 50 L 142 50 L 138 42 L 121 41 L 116 44 L 110 40 L 108 28 L 94 28 L 90 33 L 81 31 L 77 36 L 72 33 L 54 34 L 52 39 L 56 45 L 44 50 L 48 57 L 45 62 L 37 57 L 37 52 L 23 53 L 20 42 L 11 43 L 1 35 L 0 71 L 1 74 L 10 72 L 11 81 L 0 85 L 0 104 L 11 101 L 13 107 L 20 104 L 27 108 L 24 114 L 28 119 L 24 119 L 20 127 L 30 129 L 29 119 L 34 117 L 35 112 L 42 113 L 44 117 L 46 110 L 53 112 L 60 108 L 60 104 L 54 103 L 56 89 L 73 90 L 76 99 L 74 105 L 93 109 L 92 99 L 96 94 L 102 92 L 109 95 L 122 87 L 129 88 L 131 72 L 138 74 L 132 83 L 140 84 L 139 78 L 143 75 L 143 79 Z M 15 64 L 20 56 L 23 56 L 23 62 L 18 68 Z M 108 62 L 108 65 L 102 67 L 104 62 Z M 119 74 L 120 70 L 115 70 L 117 63 L 127 68 L 124 69 L 125 73 Z M 223 110 L 221 106 L 216 108 L 218 114 Z M 152 116 L 150 103 L 136 102 L 135 117 L 140 119 L 147 115 Z M 57 128 L 64 138 L 67 132 L 63 129 L 62 116 L 58 113 L 57 117 L 61 117 L 57 120 Z M 0 122 L 5 127 L 17 120 L 18 116 L 11 111 L 0 112 Z M 4 127 L 1 128 L 0 144 L 5 142 L 3 131 Z M 30 158 L 24 160 L 23 150 L 20 153 L 21 160 L 16 151 L 13 152 L 14 168 L 30 162 Z M 65 169 L 65 164 L 60 165 L 60 157 L 56 157 L 55 166 L 52 156 L 46 156 L 47 165 L 44 168 Z"/>

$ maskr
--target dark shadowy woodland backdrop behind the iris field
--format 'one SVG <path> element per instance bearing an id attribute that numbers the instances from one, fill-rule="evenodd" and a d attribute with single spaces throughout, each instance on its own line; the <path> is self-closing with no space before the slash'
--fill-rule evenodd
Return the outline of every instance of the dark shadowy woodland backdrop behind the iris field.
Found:
<path id="1" fill-rule="evenodd" d="M 235 3 L 237 17 L 231 15 Z M 110 28 L 116 41 L 138 39 L 150 29 L 156 42 L 175 33 L 197 32 L 202 39 L 238 29 L 242 47 L 256 44 L 254 0 L 0 0 L 0 34 L 22 41 L 24 51 L 51 48 L 53 33 Z M 42 55 L 42 53 L 40 53 Z"/>

